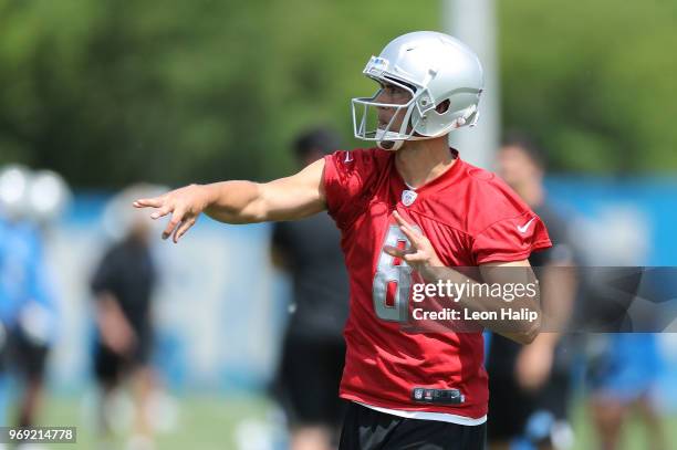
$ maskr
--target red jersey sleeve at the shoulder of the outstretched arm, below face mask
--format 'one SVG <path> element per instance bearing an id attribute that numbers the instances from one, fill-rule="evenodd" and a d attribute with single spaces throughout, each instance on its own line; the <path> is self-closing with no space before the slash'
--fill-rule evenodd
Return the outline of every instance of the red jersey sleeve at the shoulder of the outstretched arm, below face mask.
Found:
<path id="1" fill-rule="evenodd" d="M 324 193 L 330 216 L 343 229 L 364 210 L 362 199 L 379 174 L 377 149 L 338 150 L 324 157 Z"/>

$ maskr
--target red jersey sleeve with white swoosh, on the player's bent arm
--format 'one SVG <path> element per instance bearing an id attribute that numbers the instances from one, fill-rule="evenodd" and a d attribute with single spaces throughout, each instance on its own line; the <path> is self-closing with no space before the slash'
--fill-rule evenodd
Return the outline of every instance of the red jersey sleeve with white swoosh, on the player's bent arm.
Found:
<path id="1" fill-rule="evenodd" d="M 532 211 L 499 220 L 477 234 L 472 253 L 477 264 L 521 261 L 532 251 L 552 247 L 545 226 Z"/>

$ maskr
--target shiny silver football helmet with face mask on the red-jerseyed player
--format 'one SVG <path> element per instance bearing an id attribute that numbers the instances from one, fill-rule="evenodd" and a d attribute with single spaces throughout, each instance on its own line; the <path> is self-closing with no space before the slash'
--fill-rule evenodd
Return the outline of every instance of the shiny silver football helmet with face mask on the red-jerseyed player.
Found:
<path id="1" fill-rule="evenodd" d="M 382 86 L 393 84 L 410 94 L 405 104 L 378 103 L 382 90 L 352 100 L 355 137 L 375 140 L 381 148 L 396 150 L 404 140 L 444 136 L 479 118 L 482 66 L 472 50 L 450 35 L 435 31 L 400 35 L 372 56 L 363 73 Z M 447 108 L 438 111 L 446 101 Z M 377 118 L 384 107 L 394 109 L 385 126 Z"/>

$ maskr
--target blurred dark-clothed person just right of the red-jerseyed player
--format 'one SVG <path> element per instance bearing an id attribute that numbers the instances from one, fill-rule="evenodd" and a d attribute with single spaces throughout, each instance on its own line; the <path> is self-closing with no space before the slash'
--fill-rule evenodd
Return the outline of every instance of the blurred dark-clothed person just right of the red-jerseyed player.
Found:
<path id="1" fill-rule="evenodd" d="M 529 346 L 491 336 L 487 362 L 490 448 L 570 448 L 571 355 L 562 334 L 554 333 L 564 329 L 575 295 L 573 271 L 554 269 L 574 262 L 567 227 L 549 206 L 543 157 L 525 136 L 509 135 L 497 157 L 499 175 L 545 223 L 553 247 L 529 258 L 539 274 L 543 311 L 549 316 L 543 329 L 550 333 L 541 333 Z"/>

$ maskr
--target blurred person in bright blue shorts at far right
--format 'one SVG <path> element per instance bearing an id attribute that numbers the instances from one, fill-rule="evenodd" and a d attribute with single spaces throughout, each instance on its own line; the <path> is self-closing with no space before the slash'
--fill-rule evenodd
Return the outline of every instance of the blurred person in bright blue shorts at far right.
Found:
<path id="1" fill-rule="evenodd" d="M 639 448 L 667 449 L 664 418 L 656 406 L 664 360 L 658 335 L 646 333 L 664 329 L 658 322 L 666 312 L 643 308 L 675 299 L 675 276 L 642 266 L 650 251 L 649 231 L 637 209 L 615 206 L 595 222 L 579 220 L 576 229 L 576 254 L 585 271 L 580 274 L 582 295 L 574 321 L 586 331 L 580 346 L 585 352 L 586 407 L 597 448 L 625 448 L 624 435 L 631 428 L 626 425 L 634 421 L 644 431 Z"/>

